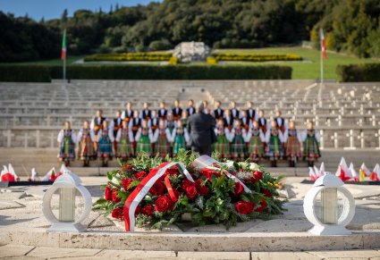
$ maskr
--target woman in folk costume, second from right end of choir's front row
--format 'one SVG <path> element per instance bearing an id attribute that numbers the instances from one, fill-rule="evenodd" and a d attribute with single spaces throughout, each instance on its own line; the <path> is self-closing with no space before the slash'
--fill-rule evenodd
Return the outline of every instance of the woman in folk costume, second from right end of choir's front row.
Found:
<path id="1" fill-rule="evenodd" d="M 285 155 L 289 159 L 289 165 L 294 167 L 297 160 L 300 159 L 300 143 L 302 142 L 301 133 L 296 129 L 294 121 L 289 122 L 289 128 L 285 130 L 283 138 L 286 143 Z"/>

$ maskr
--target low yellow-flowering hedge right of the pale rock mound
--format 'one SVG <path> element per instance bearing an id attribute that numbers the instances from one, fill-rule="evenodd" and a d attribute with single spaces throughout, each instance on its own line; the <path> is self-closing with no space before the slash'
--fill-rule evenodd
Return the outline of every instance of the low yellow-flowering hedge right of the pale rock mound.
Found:
<path id="1" fill-rule="evenodd" d="M 300 55 L 266 55 L 266 54 L 229 54 L 213 53 L 217 61 L 240 61 L 240 62 L 274 62 L 274 61 L 302 61 Z"/>

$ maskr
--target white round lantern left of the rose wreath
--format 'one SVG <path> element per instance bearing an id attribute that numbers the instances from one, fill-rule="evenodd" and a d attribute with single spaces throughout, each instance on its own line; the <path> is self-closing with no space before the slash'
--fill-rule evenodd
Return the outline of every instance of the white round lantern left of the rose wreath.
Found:
<path id="1" fill-rule="evenodd" d="M 79 191 L 84 200 L 84 208 L 80 216 L 75 219 L 75 197 Z M 51 201 L 55 192 L 59 196 L 58 217 L 53 214 Z M 47 231 L 69 231 L 80 232 L 85 231 L 86 227 L 81 224 L 91 212 L 91 195 L 89 190 L 81 185 L 80 178 L 70 171 L 63 172 L 59 176 L 52 187 L 46 190 L 43 197 L 42 212 L 47 221 L 52 223 L 52 226 Z"/>

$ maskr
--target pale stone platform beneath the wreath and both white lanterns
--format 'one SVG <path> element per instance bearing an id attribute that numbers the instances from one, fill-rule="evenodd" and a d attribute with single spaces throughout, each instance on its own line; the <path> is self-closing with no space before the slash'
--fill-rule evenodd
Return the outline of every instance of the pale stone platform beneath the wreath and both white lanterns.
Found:
<path id="1" fill-rule="evenodd" d="M 230 231 L 225 231 L 224 226 L 209 225 L 182 229 L 171 226 L 164 231 L 139 229 L 135 233 L 126 233 L 122 222 L 112 222 L 100 212 L 91 212 L 85 223 L 89 226 L 86 232 L 46 233 L 49 223 L 41 212 L 41 198 L 48 187 L 3 188 L 0 189 L 0 246 L 21 245 L 30 248 L 31 252 L 36 250 L 36 256 L 42 254 L 37 252 L 45 252 L 46 247 L 59 247 L 63 251 L 63 248 L 94 249 L 91 251 L 95 252 L 93 256 L 115 248 L 165 252 L 300 252 L 380 247 L 379 187 L 346 185 L 357 205 L 355 217 L 348 226 L 353 235 L 319 237 L 307 232 L 311 224 L 303 214 L 302 198 L 311 185 L 301 184 L 303 179 L 289 177 L 286 180 L 285 187 L 292 196 L 283 215 L 276 215 L 269 221 L 241 222 Z M 106 177 L 82 177 L 82 180 L 94 201 L 103 195 L 98 185 L 105 183 Z M 247 257 L 252 259 L 257 256 L 249 254 Z"/>

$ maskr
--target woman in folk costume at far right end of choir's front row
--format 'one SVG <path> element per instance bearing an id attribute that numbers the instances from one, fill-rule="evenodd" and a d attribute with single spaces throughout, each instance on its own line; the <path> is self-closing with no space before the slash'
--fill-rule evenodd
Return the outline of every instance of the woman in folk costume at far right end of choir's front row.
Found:
<path id="1" fill-rule="evenodd" d="M 303 140 L 303 157 L 308 160 L 308 166 L 313 167 L 314 162 L 321 156 L 319 150 L 320 136 L 319 132 L 314 129 L 313 122 L 308 122 L 308 129 L 302 135 Z"/>

